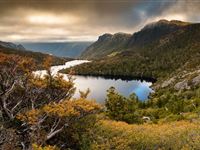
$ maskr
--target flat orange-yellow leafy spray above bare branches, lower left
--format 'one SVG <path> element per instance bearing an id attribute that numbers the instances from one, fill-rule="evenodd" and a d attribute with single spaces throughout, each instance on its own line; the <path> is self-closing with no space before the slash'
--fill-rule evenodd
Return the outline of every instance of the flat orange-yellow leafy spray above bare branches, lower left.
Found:
<path id="1" fill-rule="evenodd" d="M 17 119 L 36 124 L 39 117 L 47 114 L 48 116 L 56 117 L 78 117 L 82 113 L 90 113 L 101 109 L 101 106 L 94 101 L 85 99 L 64 100 L 60 103 L 50 103 L 41 109 L 32 109 L 24 114 L 19 114 Z"/>

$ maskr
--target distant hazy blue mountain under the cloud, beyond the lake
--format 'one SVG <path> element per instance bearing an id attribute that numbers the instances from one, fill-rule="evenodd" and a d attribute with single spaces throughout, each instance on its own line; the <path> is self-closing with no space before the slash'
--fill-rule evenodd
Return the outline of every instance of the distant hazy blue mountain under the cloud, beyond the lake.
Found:
<path id="1" fill-rule="evenodd" d="M 78 57 L 91 42 L 21 43 L 27 50 L 52 54 L 59 57 Z"/>

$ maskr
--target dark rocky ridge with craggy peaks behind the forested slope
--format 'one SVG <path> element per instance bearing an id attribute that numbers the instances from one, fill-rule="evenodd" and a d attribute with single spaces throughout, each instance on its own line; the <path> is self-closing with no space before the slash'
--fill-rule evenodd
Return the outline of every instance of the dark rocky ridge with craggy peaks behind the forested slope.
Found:
<path id="1" fill-rule="evenodd" d="M 144 47 L 168 34 L 190 25 L 188 22 L 178 20 L 160 20 L 146 25 L 139 32 L 134 34 L 104 34 L 90 45 L 81 54 L 82 58 L 96 59 L 105 56 L 112 56 L 124 50 L 133 50 Z"/>

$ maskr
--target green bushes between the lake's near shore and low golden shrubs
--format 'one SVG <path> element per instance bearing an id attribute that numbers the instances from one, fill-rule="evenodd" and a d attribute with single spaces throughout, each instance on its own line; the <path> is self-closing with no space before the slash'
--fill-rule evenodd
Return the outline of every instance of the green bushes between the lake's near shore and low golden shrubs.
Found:
<path id="1" fill-rule="evenodd" d="M 186 91 L 158 90 L 147 101 L 135 95 L 124 97 L 111 87 L 106 99 L 106 115 L 127 123 L 158 123 L 199 118 L 199 88 Z"/>

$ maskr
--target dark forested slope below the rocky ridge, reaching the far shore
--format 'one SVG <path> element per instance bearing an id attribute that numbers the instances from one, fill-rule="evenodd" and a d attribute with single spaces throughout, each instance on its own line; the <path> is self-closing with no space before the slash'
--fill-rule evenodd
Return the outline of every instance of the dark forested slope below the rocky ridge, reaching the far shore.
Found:
<path id="1" fill-rule="evenodd" d="M 169 23 L 171 26 L 171 22 Z M 152 30 L 151 32 L 159 33 L 159 28 Z M 148 44 L 126 45 L 116 55 L 104 55 L 93 63 L 75 67 L 74 71 L 86 75 L 164 78 L 177 69 L 184 70 L 200 64 L 199 31 L 200 24 L 181 23 L 175 31 L 160 34 L 159 38 L 152 37 L 155 40 Z M 139 33 L 142 32 L 144 33 L 143 30 Z M 142 37 L 145 36 L 139 37 L 138 41 L 144 41 Z"/>

